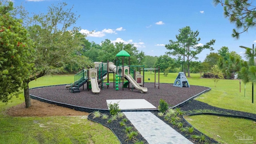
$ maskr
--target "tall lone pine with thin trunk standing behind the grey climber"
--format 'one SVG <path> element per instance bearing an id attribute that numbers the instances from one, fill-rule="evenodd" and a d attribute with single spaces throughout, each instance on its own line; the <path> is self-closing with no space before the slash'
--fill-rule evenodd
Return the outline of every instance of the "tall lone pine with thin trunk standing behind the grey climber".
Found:
<path id="1" fill-rule="evenodd" d="M 202 50 L 209 49 L 214 50 L 211 46 L 215 43 L 215 40 L 212 39 L 210 42 L 207 42 L 203 46 L 199 46 L 198 42 L 201 40 L 197 38 L 199 35 L 198 30 L 193 32 L 189 26 L 179 29 L 180 34 L 176 35 L 177 41 L 169 40 L 170 44 L 166 44 L 165 47 L 170 52 L 166 54 L 173 56 L 183 56 L 183 60 L 186 57 L 186 64 L 188 66 L 188 77 L 190 77 L 190 60 L 198 59 L 197 54 L 200 54 Z"/>

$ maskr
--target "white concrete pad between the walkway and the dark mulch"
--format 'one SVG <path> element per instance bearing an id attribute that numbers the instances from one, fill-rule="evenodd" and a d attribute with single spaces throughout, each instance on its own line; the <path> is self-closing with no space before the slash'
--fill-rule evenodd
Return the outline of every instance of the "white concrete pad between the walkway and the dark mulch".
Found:
<path id="1" fill-rule="evenodd" d="M 118 106 L 121 110 L 128 110 L 128 109 L 151 109 L 156 108 L 148 101 L 144 99 L 124 99 L 124 100 L 106 100 L 107 104 L 114 104 L 118 103 Z"/>

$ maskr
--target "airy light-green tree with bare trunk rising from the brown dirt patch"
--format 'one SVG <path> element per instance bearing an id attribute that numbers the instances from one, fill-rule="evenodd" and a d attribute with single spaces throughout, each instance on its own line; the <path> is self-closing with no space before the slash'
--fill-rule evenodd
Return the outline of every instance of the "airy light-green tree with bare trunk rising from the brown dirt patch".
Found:
<path id="1" fill-rule="evenodd" d="M 66 3 L 48 7 L 47 14 L 34 14 L 28 26 L 30 38 L 35 42 L 35 71 L 30 78 L 24 80 L 27 87 L 24 88 L 26 107 L 31 106 L 28 83 L 46 74 L 64 72 L 65 68 L 76 66 L 90 66 L 92 62 L 77 52 L 82 49 L 81 39 L 84 37 L 78 33 L 78 28 L 73 27 L 77 18 L 72 8 L 66 8 Z M 22 16 L 22 13 L 21 13 Z M 25 17 L 25 16 L 24 16 Z"/>

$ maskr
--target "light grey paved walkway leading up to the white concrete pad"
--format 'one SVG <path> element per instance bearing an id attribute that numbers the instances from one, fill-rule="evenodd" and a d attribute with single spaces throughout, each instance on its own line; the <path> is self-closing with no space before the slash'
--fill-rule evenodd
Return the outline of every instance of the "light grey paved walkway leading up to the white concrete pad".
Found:
<path id="1" fill-rule="evenodd" d="M 193 144 L 151 112 L 124 112 L 149 144 Z"/>

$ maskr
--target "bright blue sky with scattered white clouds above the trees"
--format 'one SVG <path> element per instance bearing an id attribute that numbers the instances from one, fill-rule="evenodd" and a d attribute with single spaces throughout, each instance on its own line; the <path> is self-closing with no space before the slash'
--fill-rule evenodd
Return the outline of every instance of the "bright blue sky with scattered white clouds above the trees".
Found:
<path id="1" fill-rule="evenodd" d="M 200 44 L 215 39 L 213 52 L 227 46 L 243 57 L 245 50 L 239 46 L 252 48 L 256 42 L 254 29 L 240 34 L 239 40 L 232 38 L 234 24 L 212 0 L 14 0 L 14 6 L 22 3 L 30 13 L 46 13 L 48 6 L 60 2 L 66 2 L 68 8 L 74 6 L 73 12 L 80 15 L 76 22 L 80 32 L 94 30 L 86 37 L 90 42 L 131 43 L 150 56 L 164 55 L 168 51 L 164 45 L 176 41 L 178 30 L 186 26 L 200 32 Z M 198 60 L 204 61 L 209 53 L 202 51 Z"/>

